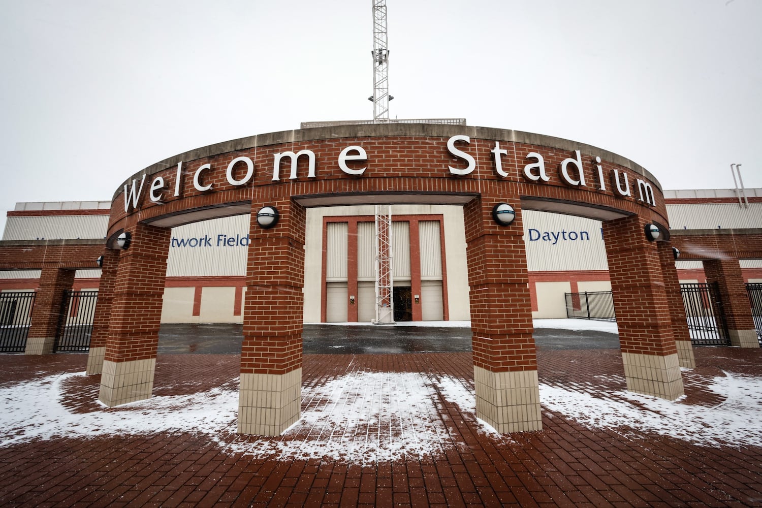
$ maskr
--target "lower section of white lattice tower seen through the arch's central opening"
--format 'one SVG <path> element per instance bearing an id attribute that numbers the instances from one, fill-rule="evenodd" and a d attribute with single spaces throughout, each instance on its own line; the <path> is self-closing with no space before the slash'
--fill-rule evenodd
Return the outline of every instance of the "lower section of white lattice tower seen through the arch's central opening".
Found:
<path id="1" fill-rule="evenodd" d="M 392 205 L 376 205 L 376 319 L 373 323 L 394 323 Z"/>

